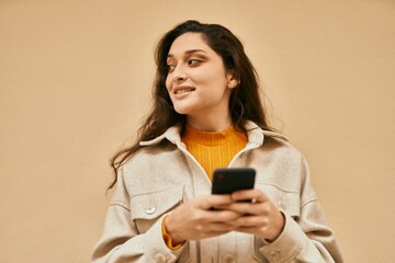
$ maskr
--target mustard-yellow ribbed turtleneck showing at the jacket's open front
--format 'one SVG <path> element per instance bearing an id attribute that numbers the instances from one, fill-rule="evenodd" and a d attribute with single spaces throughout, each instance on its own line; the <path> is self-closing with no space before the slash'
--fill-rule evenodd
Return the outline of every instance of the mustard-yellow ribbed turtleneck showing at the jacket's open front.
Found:
<path id="1" fill-rule="evenodd" d="M 234 126 L 222 132 L 202 132 L 185 125 L 181 140 L 213 181 L 214 170 L 228 167 L 235 155 L 245 148 L 247 135 Z"/>

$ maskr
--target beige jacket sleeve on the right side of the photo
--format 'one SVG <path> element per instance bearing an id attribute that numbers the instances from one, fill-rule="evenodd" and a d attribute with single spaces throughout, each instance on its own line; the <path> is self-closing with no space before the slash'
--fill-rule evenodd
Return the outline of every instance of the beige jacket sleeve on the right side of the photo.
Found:
<path id="1" fill-rule="evenodd" d="M 260 248 L 269 262 L 342 263 L 334 232 L 327 227 L 324 213 L 311 185 L 307 162 L 302 158 L 301 211 L 298 217 L 285 217 L 280 237 Z"/>

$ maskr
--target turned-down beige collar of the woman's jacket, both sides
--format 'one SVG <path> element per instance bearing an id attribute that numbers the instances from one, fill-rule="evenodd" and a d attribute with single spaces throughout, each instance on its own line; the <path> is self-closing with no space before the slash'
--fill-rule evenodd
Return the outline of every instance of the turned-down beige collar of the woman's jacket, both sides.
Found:
<path id="1" fill-rule="evenodd" d="M 263 145 L 264 137 L 274 137 L 287 141 L 289 139 L 282 134 L 261 129 L 253 122 L 247 122 L 246 124 L 248 142 L 257 146 Z M 154 146 L 162 141 L 163 139 L 169 140 L 171 144 L 178 145 L 181 142 L 181 126 L 176 125 L 169 127 L 162 135 L 151 140 L 140 141 L 140 146 Z"/>

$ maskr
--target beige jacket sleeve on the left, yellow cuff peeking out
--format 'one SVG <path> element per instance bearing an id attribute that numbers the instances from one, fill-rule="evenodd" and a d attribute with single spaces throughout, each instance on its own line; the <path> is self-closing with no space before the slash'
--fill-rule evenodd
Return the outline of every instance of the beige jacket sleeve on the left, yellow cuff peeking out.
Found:
<path id="1" fill-rule="evenodd" d="M 176 262 L 184 247 L 170 250 L 162 238 L 162 215 L 146 232 L 139 233 L 131 215 L 122 169 L 110 204 L 104 230 L 93 248 L 91 262 Z"/>

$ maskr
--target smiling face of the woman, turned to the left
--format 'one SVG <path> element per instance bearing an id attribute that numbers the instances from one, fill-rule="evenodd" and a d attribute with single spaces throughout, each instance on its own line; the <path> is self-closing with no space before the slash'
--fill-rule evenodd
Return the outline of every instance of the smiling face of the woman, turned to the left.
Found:
<path id="1" fill-rule="evenodd" d="M 166 87 L 176 112 L 187 121 L 228 117 L 232 89 L 237 85 L 223 60 L 200 33 L 185 33 L 172 43 Z"/>

